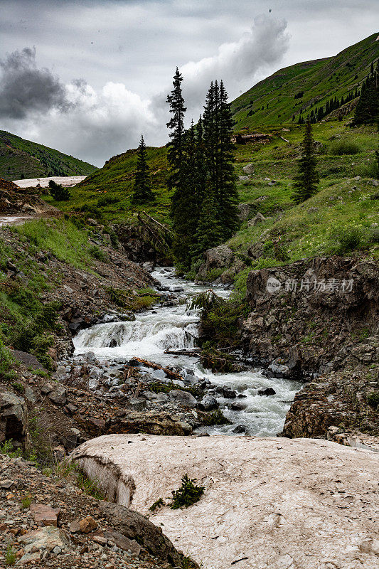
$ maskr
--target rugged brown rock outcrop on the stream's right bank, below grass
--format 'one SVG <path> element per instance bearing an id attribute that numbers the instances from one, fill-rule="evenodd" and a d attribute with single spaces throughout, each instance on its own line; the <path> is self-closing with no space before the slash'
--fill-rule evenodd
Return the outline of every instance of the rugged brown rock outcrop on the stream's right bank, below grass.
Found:
<path id="1" fill-rule="evenodd" d="M 378 435 L 378 301 L 379 269 L 368 260 L 316 257 L 250 272 L 245 351 L 267 373 L 313 378 L 284 435 L 326 437 L 331 426 Z"/>

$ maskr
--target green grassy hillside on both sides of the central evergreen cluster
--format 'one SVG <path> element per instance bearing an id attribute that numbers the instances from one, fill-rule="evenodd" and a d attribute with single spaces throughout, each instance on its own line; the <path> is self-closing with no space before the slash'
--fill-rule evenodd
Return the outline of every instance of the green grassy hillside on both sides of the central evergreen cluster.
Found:
<path id="1" fill-rule="evenodd" d="M 358 227 L 353 233 L 361 234 L 354 248 L 371 247 L 369 241 L 371 237 L 375 238 L 375 228 L 373 226 L 372 232 L 370 228 L 379 223 L 378 201 L 374 199 L 379 192 L 373 185 L 373 179 L 378 178 L 375 166 L 378 132 L 375 127 L 351 128 L 346 122 L 314 125 L 320 191 L 301 206 L 294 206 L 292 202 L 292 179 L 297 172 L 303 126 L 293 125 L 284 132 L 282 128 L 265 129 L 272 134 L 270 142 L 235 146 L 237 176 L 245 175 L 242 168 L 246 164 L 254 167 L 254 174 L 249 179 L 237 181 L 240 201 L 252 206 L 250 218 L 257 212 L 267 218 L 256 227 L 248 227 L 245 221 L 230 241 L 230 246 L 249 266 L 280 262 L 273 256 L 272 244 L 268 243 L 278 236 L 289 260 L 304 255 L 330 254 L 338 248 L 338 227 L 343 232 L 349 224 Z M 166 149 L 149 148 L 148 156 L 156 203 L 140 209 L 159 220 L 169 221 Z M 105 223 L 137 223 L 138 208 L 130 203 L 136 160 L 136 151 L 115 156 L 104 168 L 72 188 L 70 201 L 57 203 L 49 196 L 46 200 L 74 214 L 100 216 Z M 316 211 L 309 213 L 311 208 Z M 269 236 L 262 238 L 265 231 Z M 372 233 L 371 237 L 369 233 Z M 248 250 L 261 241 L 268 244 L 260 252 L 258 263 Z"/>

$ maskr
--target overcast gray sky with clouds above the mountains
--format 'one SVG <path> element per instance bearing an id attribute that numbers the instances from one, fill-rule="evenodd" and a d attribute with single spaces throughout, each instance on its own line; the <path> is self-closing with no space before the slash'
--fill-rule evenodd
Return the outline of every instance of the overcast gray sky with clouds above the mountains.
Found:
<path id="1" fill-rule="evenodd" d="M 102 166 L 167 140 L 176 65 L 188 122 L 275 70 L 378 32 L 378 0 L 1 0 L 0 128 Z"/>

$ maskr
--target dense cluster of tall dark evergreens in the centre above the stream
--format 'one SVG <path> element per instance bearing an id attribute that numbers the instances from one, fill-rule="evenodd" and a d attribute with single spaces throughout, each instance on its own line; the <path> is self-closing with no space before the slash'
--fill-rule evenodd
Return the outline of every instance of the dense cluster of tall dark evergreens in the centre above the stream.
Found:
<path id="1" fill-rule="evenodd" d="M 168 159 L 173 190 L 174 255 L 182 270 L 204 250 L 233 235 L 238 225 L 233 168 L 233 117 L 223 82 L 210 84 L 203 117 L 184 129 L 183 77 L 176 69 L 167 97 L 171 120 Z"/>

